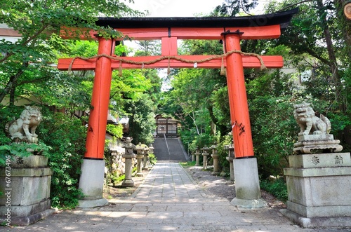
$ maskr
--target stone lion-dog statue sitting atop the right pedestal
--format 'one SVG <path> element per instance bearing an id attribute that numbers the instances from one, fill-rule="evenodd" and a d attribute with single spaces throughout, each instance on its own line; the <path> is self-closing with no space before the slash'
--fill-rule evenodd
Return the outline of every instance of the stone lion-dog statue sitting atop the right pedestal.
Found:
<path id="1" fill-rule="evenodd" d="M 318 118 L 310 104 L 296 104 L 293 116 L 300 126 L 298 135 L 328 135 L 331 131 L 331 123 L 324 115 Z"/>

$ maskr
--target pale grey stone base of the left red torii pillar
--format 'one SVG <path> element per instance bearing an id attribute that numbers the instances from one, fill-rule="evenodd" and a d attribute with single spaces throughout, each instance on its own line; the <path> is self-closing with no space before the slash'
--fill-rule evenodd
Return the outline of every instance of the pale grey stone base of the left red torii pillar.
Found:
<path id="1" fill-rule="evenodd" d="M 90 208 L 106 205 L 108 201 L 102 198 L 104 186 L 105 161 L 84 159 L 81 165 L 79 189 L 84 193 L 83 200 L 79 200 L 78 207 Z"/>

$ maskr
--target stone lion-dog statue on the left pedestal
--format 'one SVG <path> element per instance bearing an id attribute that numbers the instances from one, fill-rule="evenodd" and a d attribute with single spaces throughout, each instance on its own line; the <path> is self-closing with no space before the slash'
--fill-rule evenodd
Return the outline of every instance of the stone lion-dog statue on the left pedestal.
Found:
<path id="1" fill-rule="evenodd" d="M 26 106 L 20 118 L 8 122 L 5 131 L 15 142 L 37 142 L 38 135 L 35 133 L 42 120 L 40 107 Z"/>

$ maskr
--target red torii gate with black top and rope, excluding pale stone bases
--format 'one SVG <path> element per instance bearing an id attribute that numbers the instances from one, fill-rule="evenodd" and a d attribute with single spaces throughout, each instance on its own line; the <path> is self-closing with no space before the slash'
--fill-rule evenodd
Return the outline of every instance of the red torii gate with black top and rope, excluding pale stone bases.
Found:
<path id="1" fill-rule="evenodd" d="M 281 13 L 234 18 L 99 18 L 97 25 L 112 27 L 131 39 L 160 39 L 161 55 L 117 57 L 114 55 L 114 39 L 102 39 L 91 32 L 91 38 L 99 41 L 97 57 L 90 60 L 67 58 L 58 61 L 60 70 L 95 70 L 84 158 L 103 160 L 112 69 L 195 66 L 226 67 L 235 158 L 253 157 L 244 68 L 283 67 L 283 58 L 241 53 L 240 40 L 277 39 L 281 29 L 289 25 L 297 12 L 296 8 Z M 223 40 L 225 55 L 178 55 L 178 39 Z"/>

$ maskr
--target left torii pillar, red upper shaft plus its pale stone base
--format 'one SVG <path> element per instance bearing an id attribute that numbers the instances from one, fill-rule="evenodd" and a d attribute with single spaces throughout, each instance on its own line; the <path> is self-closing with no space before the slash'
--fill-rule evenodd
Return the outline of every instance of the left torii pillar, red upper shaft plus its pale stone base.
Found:
<path id="1" fill-rule="evenodd" d="M 98 41 L 98 55 L 112 55 L 114 41 L 102 37 L 99 37 Z M 81 165 L 82 175 L 79 179 L 79 189 L 82 189 L 85 197 L 84 200 L 79 200 L 79 207 L 95 207 L 108 203 L 105 198 L 102 198 L 102 192 L 105 174 L 103 158 L 111 80 L 111 59 L 99 57 L 96 60 L 88 133 L 86 135 L 86 153 Z"/>

